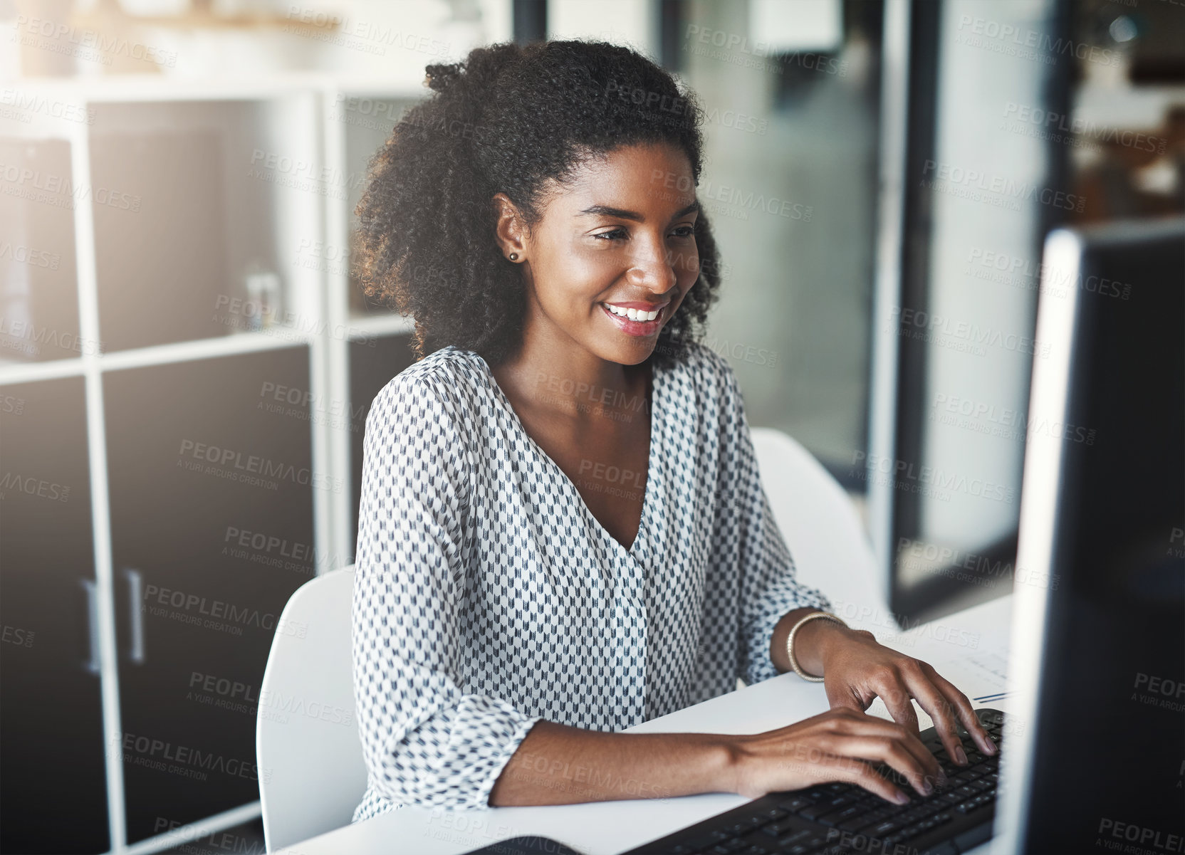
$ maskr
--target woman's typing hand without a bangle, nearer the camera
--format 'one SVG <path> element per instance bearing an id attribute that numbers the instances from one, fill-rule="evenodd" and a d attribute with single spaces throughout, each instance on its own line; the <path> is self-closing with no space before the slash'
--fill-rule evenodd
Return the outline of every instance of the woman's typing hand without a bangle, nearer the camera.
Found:
<path id="1" fill-rule="evenodd" d="M 730 737 L 729 747 L 732 791 L 745 798 L 846 782 L 889 802 L 908 802 L 896 784 L 873 770 L 878 763 L 923 796 L 935 785 L 946 785 L 942 767 L 917 735 L 893 721 L 845 707 L 774 731 Z"/>

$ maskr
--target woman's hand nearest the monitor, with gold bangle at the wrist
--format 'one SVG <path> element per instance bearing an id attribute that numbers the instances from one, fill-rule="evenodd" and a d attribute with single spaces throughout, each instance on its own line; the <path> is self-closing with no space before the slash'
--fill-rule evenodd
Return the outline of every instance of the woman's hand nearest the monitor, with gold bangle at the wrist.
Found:
<path id="1" fill-rule="evenodd" d="M 929 663 L 884 647 L 867 630 L 848 629 L 831 621 L 811 623 L 818 628 L 813 647 L 822 664 L 824 687 L 832 708 L 851 707 L 864 712 L 880 698 L 897 724 L 917 733 L 917 714 L 910 701 L 917 699 L 918 706 L 934 720 L 947 753 L 960 766 L 967 764 L 967 756 L 955 732 L 956 720 L 985 754 L 998 751 L 975 718 L 967 695 Z"/>

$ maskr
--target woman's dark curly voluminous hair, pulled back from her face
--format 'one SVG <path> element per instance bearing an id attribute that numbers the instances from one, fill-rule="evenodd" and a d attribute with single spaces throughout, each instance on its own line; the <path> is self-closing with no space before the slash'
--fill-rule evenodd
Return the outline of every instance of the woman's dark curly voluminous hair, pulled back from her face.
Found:
<path id="1" fill-rule="evenodd" d="M 356 213 L 356 262 L 367 297 L 416 321 L 417 358 L 455 345 L 497 364 L 521 341 L 521 272 L 494 239 L 493 195 L 505 193 L 530 229 L 549 181 L 623 146 L 668 143 L 696 184 L 703 112 L 674 78 L 604 41 L 500 44 L 429 65 L 433 95 L 401 116 L 371 156 Z M 552 185 L 553 186 L 553 185 Z M 662 329 L 651 359 L 678 360 L 703 334 L 719 285 L 716 242 L 700 211 L 699 278 Z"/>

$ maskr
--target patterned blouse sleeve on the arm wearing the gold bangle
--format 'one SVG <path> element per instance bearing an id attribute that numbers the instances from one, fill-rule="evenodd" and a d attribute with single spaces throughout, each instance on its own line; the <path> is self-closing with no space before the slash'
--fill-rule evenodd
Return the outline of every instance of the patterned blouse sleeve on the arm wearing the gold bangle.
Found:
<path id="1" fill-rule="evenodd" d="M 722 385 L 722 465 L 717 541 L 735 539 L 729 549 L 739 578 L 737 676 L 747 684 L 777 676 L 769 658 L 774 626 L 788 611 L 831 609 L 822 593 L 795 578 L 790 557 L 769 499 L 761 484 L 741 387 L 732 369 L 717 358 Z"/>

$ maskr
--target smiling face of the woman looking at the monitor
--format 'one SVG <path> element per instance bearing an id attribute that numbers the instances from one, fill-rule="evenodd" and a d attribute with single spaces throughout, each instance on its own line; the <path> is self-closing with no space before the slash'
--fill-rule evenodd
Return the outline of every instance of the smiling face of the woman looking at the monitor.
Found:
<path id="1" fill-rule="evenodd" d="M 524 236 L 525 336 L 641 362 L 699 277 L 687 155 L 630 146 L 590 160 Z"/>

